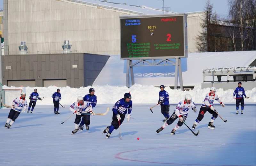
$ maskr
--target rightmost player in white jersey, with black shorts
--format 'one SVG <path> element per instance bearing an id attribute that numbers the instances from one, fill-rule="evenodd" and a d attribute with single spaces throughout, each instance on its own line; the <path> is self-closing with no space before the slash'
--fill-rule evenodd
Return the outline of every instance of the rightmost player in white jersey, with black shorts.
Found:
<path id="1" fill-rule="evenodd" d="M 217 102 L 219 102 L 221 104 L 222 107 L 225 107 L 225 104 L 221 102 L 220 98 L 218 97 L 217 94 L 215 94 L 216 92 L 216 88 L 215 87 L 211 87 L 210 89 L 210 93 L 207 93 L 205 95 L 204 101 L 202 102 L 198 117 L 195 120 L 195 123 L 192 126 L 192 129 L 196 128 L 196 125 L 202 121 L 202 119 L 204 118 L 204 114 L 208 111 L 210 114 L 212 114 L 212 118 L 211 121 L 208 124 L 208 128 L 209 129 L 215 129 L 215 126 L 212 125 L 212 123 L 214 122 L 214 120 L 218 117 L 218 114 L 215 112 L 215 108 L 213 107 L 213 102 L 214 100 L 216 100 Z"/>

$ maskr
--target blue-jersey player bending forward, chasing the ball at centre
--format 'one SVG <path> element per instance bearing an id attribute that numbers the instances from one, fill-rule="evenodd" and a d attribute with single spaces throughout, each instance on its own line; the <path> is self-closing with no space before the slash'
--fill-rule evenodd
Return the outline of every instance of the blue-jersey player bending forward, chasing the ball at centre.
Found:
<path id="1" fill-rule="evenodd" d="M 107 128 L 103 131 L 103 133 L 107 133 L 106 139 L 109 138 L 110 134 L 113 132 L 114 129 L 118 129 L 119 125 L 121 125 L 124 121 L 125 114 L 127 114 L 128 122 L 131 118 L 131 112 L 132 112 L 132 96 L 130 93 L 125 93 L 124 98 L 118 100 L 116 104 L 113 106 L 113 116 L 112 116 L 112 122 L 110 126 L 107 126 Z M 120 124 L 119 124 L 120 123 Z"/>

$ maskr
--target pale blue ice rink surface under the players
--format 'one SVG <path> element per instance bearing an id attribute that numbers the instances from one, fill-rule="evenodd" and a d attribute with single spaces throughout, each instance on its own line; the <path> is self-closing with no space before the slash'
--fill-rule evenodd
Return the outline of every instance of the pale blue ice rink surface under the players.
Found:
<path id="1" fill-rule="evenodd" d="M 112 121 L 113 104 L 97 104 L 91 116 L 90 129 L 74 130 L 75 114 L 70 105 L 55 115 L 53 105 L 36 105 L 33 113 L 21 113 L 10 129 L 4 128 L 10 109 L 0 109 L 0 165 L 256 165 L 256 105 L 245 105 L 244 114 L 236 115 L 235 105 L 214 106 L 220 116 L 208 129 L 211 114 L 205 114 L 196 126 L 195 136 L 184 124 L 170 132 L 177 124 L 162 132 L 164 116 L 155 104 L 133 104 L 130 122 L 124 120 L 119 129 L 105 139 L 103 130 Z M 200 105 L 196 105 L 199 111 Z M 170 106 L 170 114 L 176 105 Z M 185 123 L 192 125 L 198 113 L 189 111 Z M 139 138 L 139 140 L 137 139 Z"/>

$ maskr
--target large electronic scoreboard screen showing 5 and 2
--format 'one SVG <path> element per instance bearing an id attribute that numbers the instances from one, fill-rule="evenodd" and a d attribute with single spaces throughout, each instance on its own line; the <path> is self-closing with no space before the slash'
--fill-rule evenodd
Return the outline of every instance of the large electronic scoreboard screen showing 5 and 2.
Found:
<path id="1" fill-rule="evenodd" d="M 121 59 L 188 57 L 187 14 L 119 18 Z"/>

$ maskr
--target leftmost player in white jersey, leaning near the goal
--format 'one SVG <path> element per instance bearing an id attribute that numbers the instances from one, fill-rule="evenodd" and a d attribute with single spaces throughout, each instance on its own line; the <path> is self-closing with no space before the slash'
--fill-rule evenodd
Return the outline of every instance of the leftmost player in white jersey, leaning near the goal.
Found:
<path id="1" fill-rule="evenodd" d="M 28 107 L 28 102 L 25 99 L 25 97 L 26 97 L 26 93 L 21 92 L 20 97 L 17 97 L 12 101 L 11 110 L 9 112 L 9 115 L 7 117 L 7 121 L 4 127 L 7 127 L 9 129 L 11 125 L 15 122 L 15 120 L 18 118 L 18 116 L 20 115 L 20 112 L 25 112 L 26 108 Z"/>

